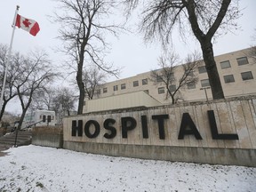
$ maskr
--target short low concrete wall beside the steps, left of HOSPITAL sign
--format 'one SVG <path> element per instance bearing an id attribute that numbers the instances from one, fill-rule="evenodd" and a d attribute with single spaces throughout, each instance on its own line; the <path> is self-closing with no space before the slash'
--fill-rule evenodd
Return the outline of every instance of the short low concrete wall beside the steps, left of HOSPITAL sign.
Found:
<path id="1" fill-rule="evenodd" d="M 44 147 L 62 148 L 62 127 L 48 126 L 35 127 L 32 130 L 32 144 Z"/>

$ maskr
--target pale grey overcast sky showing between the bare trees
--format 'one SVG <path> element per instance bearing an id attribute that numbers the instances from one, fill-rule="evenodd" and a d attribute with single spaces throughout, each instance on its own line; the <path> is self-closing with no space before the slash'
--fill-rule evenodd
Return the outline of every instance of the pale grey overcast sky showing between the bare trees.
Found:
<path id="1" fill-rule="evenodd" d="M 36 48 L 44 49 L 50 54 L 53 63 L 60 64 L 62 56 L 60 53 L 53 52 L 54 47 L 61 46 L 60 41 L 56 39 L 58 25 L 52 23 L 47 17 L 47 15 L 52 15 L 57 7 L 52 0 L 2 0 L 0 4 L 0 44 L 10 44 L 12 20 L 17 4 L 20 5 L 20 15 L 36 20 L 41 30 L 35 37 L 22 29 L 16 29 L 12 50 L 26 54 Z M 241 30 L 218 38 L 213 44 L 215 55 L 244 49 L 253 44 L 252 35 L 255 34 L 254 28 L 256 28 L 256 1 L 241 0 L 240 5 L 244 9 L 244 15 L 238 20 Z M 118 39 L 111 37 L 107 41 L 111 42 L 112 50 L 106 59 L 113 62 L 116 67 L 123 68 L 120 78 L 135 76 L 157 68 L 157 58 L 161 53 L 160 44 L 145 44 L 143 36 L 136 33 L 120 35 Z M 200 46 L 195 40 L 188 39 L 185 44 L 180 41 L 179 35 L 174 35 L 173 46 L 181 58 L 185 57 L 188 52 L 200 51 Z M 111 80 L 115 79 L 111 78 Z"/>

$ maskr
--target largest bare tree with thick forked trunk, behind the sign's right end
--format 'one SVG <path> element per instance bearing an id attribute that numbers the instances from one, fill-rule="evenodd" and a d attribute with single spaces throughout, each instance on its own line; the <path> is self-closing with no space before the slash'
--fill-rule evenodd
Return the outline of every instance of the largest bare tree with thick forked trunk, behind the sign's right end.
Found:
<path id="1" fill-rule="evenodd" d="M 214 60 L 212 38 L 236 28 L 235 20 L 240 16 L 239 0 L 151 0 L 144 6 L 142 12 L 141 31 L 145 39 L 160 37 L 163 44 L 168 44 L 174 28 L 180 29 L 180 34 L 191 28 L 201 45 L 204 63 L 212 87 L 213 99 L 224 98 L 220 76 Z M 128 10 L 141 2 L 140 0 L 124 0 Z M 218 30 L 218 29 L 223 30 Z M 218 33 L 217 34 L 217 30 Z"/>

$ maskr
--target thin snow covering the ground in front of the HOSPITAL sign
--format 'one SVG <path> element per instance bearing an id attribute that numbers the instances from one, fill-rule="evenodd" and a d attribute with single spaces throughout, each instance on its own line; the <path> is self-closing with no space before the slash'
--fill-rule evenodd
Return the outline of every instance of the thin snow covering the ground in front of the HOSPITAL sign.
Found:
<path id="1" fill-rule="evenodd" d="M 0 191 L 256 191 L 256 168 L 25 146 L 0 157 Z"/>

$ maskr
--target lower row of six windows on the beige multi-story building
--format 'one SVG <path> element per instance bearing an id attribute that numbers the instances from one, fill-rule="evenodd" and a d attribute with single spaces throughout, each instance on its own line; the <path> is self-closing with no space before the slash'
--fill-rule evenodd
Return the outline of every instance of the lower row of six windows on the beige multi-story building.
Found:
<path id="1" fill-rule="evenodd" d="M 253 79 L 252 71 L 247 71 L 247 72 L 241 73 L 241 76 L 242 76 L 243 81 Z M 223 78 L 224 78 L 225 84 L 235 82 L 235 78 L 234 78 L 233 75 L 223 76 Z M 210 86 L 209 79 L 201 80 L 201 86 L 202 87 Z M 188 89 L 196 89 L 196 84 L 195 83 L 188 83 L 187 87 L 188 87 Z M 175 84 L 170 85 L 169 90 L 171 92 L 175 92 L 176 85 Z M 158 88 L 158 94 L 163 94 L 163 93 L 164 93 L 164 87 L 159 87 Z"/>

